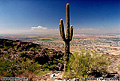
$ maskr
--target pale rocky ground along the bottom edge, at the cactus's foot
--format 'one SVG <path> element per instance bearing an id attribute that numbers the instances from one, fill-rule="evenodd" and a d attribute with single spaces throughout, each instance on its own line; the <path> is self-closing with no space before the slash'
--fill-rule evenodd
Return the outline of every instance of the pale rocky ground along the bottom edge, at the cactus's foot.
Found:
<path id="1" fill-rule="evenodd" d="M 110 73 L 110 75 L 108 77 L 94 77 L 94 76 L 91 76 L 90 78 L 73 78 L 73 79 L 69 79 L 69 78 L 63 78 L 63 73 L 62 71 L 55 71 L 55 72 L 52 72 L 52 73 L 47 73 L 45 75 L 41 75 L 41 76 L 34 76 L 32 78 L 32 81 L 119 81 L 120 79 L 120 74 L 118 74 L 117 72 L 115 71 L 112 71 Z M 110 77 L 110 76 L 113 76 Z M 89 79 L 89 80 L 87 80 Z M 90 79 L 96 79 L 96 80 L 90 80 Z"/>

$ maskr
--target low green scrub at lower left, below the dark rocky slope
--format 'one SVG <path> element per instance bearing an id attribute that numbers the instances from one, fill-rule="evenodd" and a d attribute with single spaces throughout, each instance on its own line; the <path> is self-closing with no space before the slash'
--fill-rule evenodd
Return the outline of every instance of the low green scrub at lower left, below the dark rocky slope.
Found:
<path id="1" fill-rule="evenodd" d="M 35 73 L 40 68 L 40 64 L 30 59 L 9 61 L 0 57 L 0 75 L 2 76 L 13 77 L 15 74 L 22 74 L 26 70 Z"/>

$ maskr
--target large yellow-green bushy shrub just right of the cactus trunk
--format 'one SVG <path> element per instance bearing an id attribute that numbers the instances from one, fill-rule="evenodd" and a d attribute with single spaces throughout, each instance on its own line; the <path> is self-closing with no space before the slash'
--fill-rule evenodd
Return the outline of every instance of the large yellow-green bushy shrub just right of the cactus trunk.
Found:
<path id="1" fill-rule="evenodd" d="M 89 51 L 81 50 L 80 54 L 75 52 L 70 56 L 64 76 L 81 78 L 89 77 L 92 72 L 106 73 L 109 64 L 107 57 L 91 56 Z"/>

